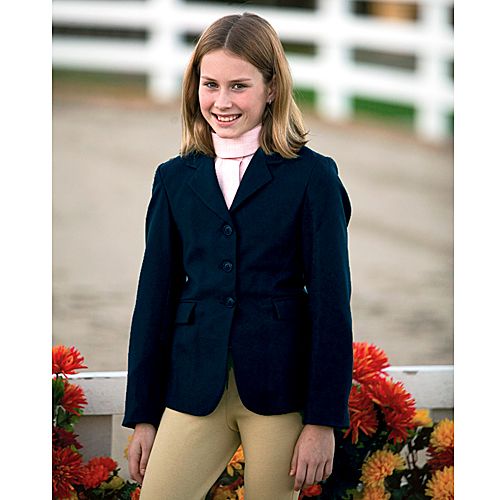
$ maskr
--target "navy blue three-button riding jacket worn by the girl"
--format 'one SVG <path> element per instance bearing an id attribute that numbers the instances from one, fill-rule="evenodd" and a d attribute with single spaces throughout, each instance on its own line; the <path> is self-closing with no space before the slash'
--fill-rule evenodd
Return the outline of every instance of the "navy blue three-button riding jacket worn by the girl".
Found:
<path id="1" fill-rule="evenodd" d="M 228 353 L 241 401 L 261 415 L 347 427 L 352 382 L 351 205 L 335 162 L 308 147 L 258 149 L 227 208 L 214 159 L 155 174 L 132 317 L 123 425 L 166 406 L 208 415 Z"/>

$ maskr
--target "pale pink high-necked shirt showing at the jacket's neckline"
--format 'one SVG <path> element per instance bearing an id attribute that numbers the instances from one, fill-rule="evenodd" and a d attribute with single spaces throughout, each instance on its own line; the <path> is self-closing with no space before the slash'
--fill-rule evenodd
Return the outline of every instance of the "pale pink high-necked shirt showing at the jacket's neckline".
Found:
<path id="1" fill-rule="evenodd" d="M 229 208 L 238 190 L 243 175 L 260 146 L 262 125 L 245 132 L 235 139 L 223 139 L 212 132 L 215 149 L 215 174 Z"/>

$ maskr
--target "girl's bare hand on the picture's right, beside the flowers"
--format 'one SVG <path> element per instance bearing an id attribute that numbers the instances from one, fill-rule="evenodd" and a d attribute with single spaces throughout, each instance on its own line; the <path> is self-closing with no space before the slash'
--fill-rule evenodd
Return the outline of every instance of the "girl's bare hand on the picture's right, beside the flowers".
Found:
<path id="1" fill-rule="evenodd" d="M 335 437 L 333 428 L 307 424 L 293 451 L 290 475 L 295 475 L 294 490 L 324 481 L 332 473 Z"/>

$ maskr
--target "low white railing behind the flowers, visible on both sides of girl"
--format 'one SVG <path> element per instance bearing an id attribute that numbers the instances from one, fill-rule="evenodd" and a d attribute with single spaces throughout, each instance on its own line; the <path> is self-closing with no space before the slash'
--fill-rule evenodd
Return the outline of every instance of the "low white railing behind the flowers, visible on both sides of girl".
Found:
<path id="1" fill-rule="evenodd" d="M 428 408 L 435 420 L 453 418 L 453 366 L 393 366 L 387 372 L 404 383 L 415 398 L 417 408 Z M 124 412 L 126 372 L 87 372 L 72 375 L 82 387 L 88 404 L 76 426 L 84 445 L 83 455 L 108 455 L 118 461 L 126 476 L 123 450 L 130 429 L 121 427 Z"/>

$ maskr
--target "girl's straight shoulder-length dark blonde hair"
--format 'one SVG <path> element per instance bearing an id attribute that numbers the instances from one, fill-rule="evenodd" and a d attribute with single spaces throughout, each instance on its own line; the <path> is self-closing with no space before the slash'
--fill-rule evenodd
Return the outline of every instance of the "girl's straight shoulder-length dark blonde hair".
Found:
<path id="1" fill-rule="evenodd" d="M 204 55 L 225 49 L 253 64 L 266 84 L 274 79 L 275 98 L 262 116 L 260 145 L 266 154 L 295 158 L 307 143 L 302 114 L 293 98 L 292 76 L 283 46 L 273 27 L 256 14 L 225 16 L 201 35 L 182 83 L 181 155 L 215 156 L 211 128 L 203 118 L 198 99 L 200 64 Z"/>

